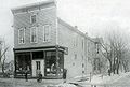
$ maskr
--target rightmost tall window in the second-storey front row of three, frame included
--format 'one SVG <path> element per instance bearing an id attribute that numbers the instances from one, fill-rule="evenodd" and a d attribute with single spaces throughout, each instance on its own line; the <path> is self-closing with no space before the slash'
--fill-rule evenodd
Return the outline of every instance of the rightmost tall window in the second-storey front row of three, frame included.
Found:
<path id="1" fill-rule="evenodd" d="M 50 41 L 50 30 L 51 26 L 50 25 L 44 25 L 43 26 L 43 42 L 49 42 Z"/>

